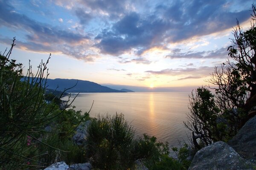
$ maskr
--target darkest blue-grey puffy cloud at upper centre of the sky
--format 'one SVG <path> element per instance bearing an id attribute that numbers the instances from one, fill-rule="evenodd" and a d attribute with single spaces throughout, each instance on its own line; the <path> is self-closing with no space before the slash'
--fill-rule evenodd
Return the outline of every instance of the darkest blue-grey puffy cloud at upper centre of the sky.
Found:
<path id="1" fill-rule="evenodd" d="M 115 23 L 112 31 L 104 30 L 96 38 L 101 41 L 96 46 L 102 53 L 120 55 L 125 51 L 136 48 L 148 49 L 156 46 L 161 40 L 161 33 L 168 27 L 168 23 L 156 18 L 140 18 L 140 14 L 131 13 Z M 143 50 L 140 52 L 142 53 Z"/>

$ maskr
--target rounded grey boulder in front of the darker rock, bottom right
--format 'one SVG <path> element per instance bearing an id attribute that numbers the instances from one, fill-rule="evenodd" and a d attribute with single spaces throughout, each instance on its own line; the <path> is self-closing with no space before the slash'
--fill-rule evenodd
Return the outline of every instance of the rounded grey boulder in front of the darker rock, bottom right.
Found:
<path id="1" fill-rule="evenodd" d="M 199 150 L 189 170 L 253 170 L 253 164 L 228 144 L 219 141 Z"/>

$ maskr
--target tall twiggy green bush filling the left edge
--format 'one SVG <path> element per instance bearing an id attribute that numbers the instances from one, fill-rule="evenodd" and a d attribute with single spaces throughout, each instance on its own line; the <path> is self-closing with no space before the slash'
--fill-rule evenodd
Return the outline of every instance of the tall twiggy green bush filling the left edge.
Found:
<path id="1" fill-rule="evenodd" d="M 70 134 L 75 124 L 86 116 L 80 116 L 80 111 L 60 110 L 57 104 L 59 100 L 50 104 L 46 102 L 45 82 L 50 57 L 46 63 L 39 64 L 36 74 L 32 73 L 29 65 L 26 76 L 23 76 L 22 64 L 9 59 L 14 42 L 15 39 L 7 54 L 6 51 L 0 54 L 0 169 L 42 168 L 55 160 L 55 156 L 50 156 L 52 153 L 59 153 L 58 156 L 63 157 L 63 151 L 58 147 L 81 151 L 81 148 L 71 147 L 70 138 L 61 138 L 59 134 L 62 134 L 60 130 Z M 44 130 L 47 125 L 53 125 L 51 132 Z M 70 154 L 75 155 L 74 152 Z M 77 156 L 73 156 L 74 159 Z"/>

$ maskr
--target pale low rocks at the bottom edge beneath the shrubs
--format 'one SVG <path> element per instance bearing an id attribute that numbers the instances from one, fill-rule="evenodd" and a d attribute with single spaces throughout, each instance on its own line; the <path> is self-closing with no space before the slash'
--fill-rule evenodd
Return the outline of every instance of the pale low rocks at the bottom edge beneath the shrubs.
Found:
<path id="1" fill-rule="evenodd" d="M 57 162 L 55 164 L 50 165 L 44 170 L 91 170 L 92 165 L 90 163 L 84 164 L 72 164 L 68 166 L 64 161 Z"/>

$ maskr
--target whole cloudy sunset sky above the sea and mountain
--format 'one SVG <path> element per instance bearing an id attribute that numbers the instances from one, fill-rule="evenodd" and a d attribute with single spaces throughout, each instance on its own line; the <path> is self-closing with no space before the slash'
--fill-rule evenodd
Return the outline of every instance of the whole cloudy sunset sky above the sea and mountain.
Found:
<path id="1" fill-rule="evenodd" d="M 111 87 L 208 85 L 253 0 L 0 0 L 0 51 L 49 78 Z M 117 86 L 119 85 L 119 86 Z"/>

